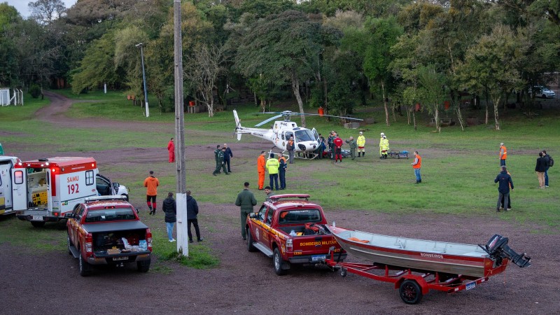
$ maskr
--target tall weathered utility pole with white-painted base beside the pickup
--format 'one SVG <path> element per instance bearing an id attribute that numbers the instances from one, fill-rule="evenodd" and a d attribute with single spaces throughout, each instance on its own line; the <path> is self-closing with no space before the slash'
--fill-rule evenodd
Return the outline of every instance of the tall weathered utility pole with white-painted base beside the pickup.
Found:
<path id="1" fill-rule="evenodd" d="M 181 0 L 174 0 L 175 65 L 175 166 L 177 202 L 177 252 L 188 256 L 187 174 L 185 167 L 185 118 L 183 111 L 183 40 L 181 38 Z M 146 108 L 148 102 L 146 102 Z"/>

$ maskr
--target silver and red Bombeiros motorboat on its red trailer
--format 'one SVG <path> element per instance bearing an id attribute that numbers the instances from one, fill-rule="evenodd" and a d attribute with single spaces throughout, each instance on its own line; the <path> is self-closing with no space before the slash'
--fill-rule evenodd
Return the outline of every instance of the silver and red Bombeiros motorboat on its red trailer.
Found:
<path id="1" fill-rule="evenodd" d="M 519 267 L 531 265 L 531 258 L 513 251 L 507 246 L 507 237 L 501 235 L 494 235 L 485 245 L 475 245 L 379 235 L 332 225 L 325 228 L 344 251 L 372 262 L 340 262 L 331 253 L 325 260 L 328 267 L 339 269 L 342 276 L 351 272 L 395 283 L 407 304 L 418 303 L 430 289 L 453 293 L 475 288 L 489 276 L 503 272 L 509 262 Z"/>

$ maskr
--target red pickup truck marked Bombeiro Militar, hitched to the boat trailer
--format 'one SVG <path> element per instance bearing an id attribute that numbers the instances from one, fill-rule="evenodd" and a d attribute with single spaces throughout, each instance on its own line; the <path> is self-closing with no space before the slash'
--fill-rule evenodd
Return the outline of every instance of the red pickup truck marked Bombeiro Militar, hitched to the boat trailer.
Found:
<path id="1" fill-rule="evenodd" d="M 279 276 L 290 264 L 318 264 L 332 247 L 335 259 L 342 261 L 346 252 L 324 228 L 326 223 L 323 208 L 309 202 L 309 195 L 274 195 L 258 213 L 247 216 L 247 249 L 272 258 Z"/>

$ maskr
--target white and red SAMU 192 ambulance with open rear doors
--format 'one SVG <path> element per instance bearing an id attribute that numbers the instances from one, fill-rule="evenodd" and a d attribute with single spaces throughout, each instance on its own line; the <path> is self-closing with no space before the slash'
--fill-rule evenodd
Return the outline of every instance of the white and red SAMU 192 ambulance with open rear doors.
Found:
<path id="1" fill-rule="evenodd" d="M 12 207 L 34 227 L 64 220 L 87 197 L 123 195 L 125 186 L 99 175 L 94 158 L 56 157 L 18 162 L 11 170 Z"/>

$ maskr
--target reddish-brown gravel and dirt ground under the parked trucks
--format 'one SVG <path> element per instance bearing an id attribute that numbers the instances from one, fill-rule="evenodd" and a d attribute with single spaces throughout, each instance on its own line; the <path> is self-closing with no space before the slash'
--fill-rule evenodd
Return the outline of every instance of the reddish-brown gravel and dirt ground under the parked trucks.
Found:
<path id="1" fill-rule="evenodd" d="M 55 121 L 70 104 L 62 97 L 53 100 L 51 106 L 41 110 L 48 121 Z M 100 124 L 126 129 L 143 127 L 99 120 L 78 123 L 81 127 Z M 165 132 L 172 130 L 165 124 L 158 128 Z M 234 152 L 241 153 L 248 145 L 231 146 Z M 208 147 L 188 148 L 188 159 L 208 158 L 200 153 Z M 20 158 L 36 158 L 29 149 L 20 149 Z M 18 148 L 13 151 L 17 152 Z M 134 161 L 119 162 L 131 151 L 137 157 Z M 94 156 L 100 157 L 100 165 L 145 164 L 161 162 L 162 152 L 137 148 L 96 151 Z M 118 177 L 118 174 L 111 175 Z M 141 204 L 142 196 L 134 197 L 132 202 Z M 78 262 L 64 251 L 36 255 L 10 244 L 0 244 L 2 313 L 71 314 L 87 310 L 96 314 L 558 314 L 557 232 L 535 232 L 538 227 L 506 223 L 495 214 L 475 218 L 419 216 L 414 212 L 393 216 L 352 209 L 330 211 L 330 221 L 336 221 L 339 226 L 379 234 L 395 235 L 398 231 L 405 237 L 479 244 L 498 233 L 510 238 L 514 250 L 527 252 L 533 259 L 530 268 L 510 266 L 504 274 L 494 276 L 475 290 L 450 295 L 430 291 L 420 304 L 407 305 L 391 283 L 353 274 L 342 278 L 327 269 L 311 267 L 276 276 L 269 258 L 246 250 L 239 235 L 237 207 L 232 204 L 200 204 L 200 207 L 204 209 L 204 241 L 219 256 L 219 267 L 197 270 L 162 262 L 172 272 L 139 274 L 132 266 L 106 267 L 84 278 L 78 275 Z M 15 218 L 8 220 L 10 224 L 20 224 Z M 162 221 L 161 218 L 151 220 L 154 224 Z M 351 257 L 348 260 L 358 261 Z"/>

